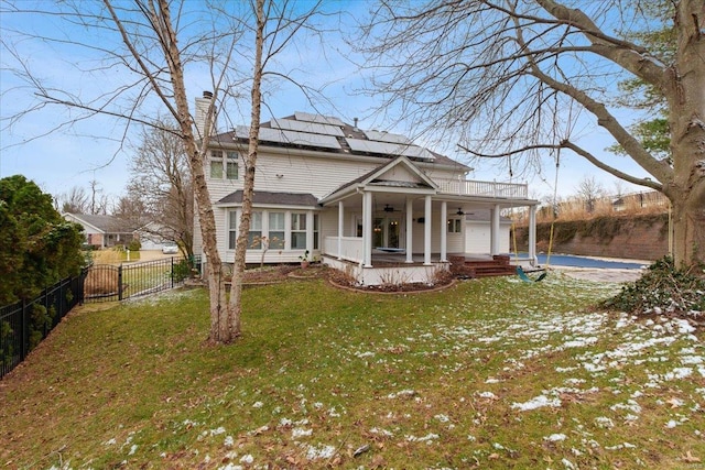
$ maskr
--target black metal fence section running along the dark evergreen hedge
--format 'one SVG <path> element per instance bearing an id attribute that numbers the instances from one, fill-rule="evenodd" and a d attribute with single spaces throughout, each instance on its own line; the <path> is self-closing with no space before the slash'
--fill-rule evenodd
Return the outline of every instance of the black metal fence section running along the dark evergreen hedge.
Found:
<path id="1" fill-rule="evenodd" d="M 46 287 L 32 300 L 0 307 L 0 379 L 26 358 L 84 297 L 84 271 Z"/>

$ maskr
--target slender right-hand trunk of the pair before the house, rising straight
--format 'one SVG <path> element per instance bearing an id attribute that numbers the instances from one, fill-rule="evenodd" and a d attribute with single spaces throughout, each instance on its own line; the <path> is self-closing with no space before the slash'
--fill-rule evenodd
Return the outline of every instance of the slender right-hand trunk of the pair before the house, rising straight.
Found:
<path id="1" fill-rule="evenodd" d="M 262 44 L 264 41 L 264 0 L 257 0 L 256 4 L 257 31 L 254 42 L 254 68 L 252 77 L 251 94 L 251 119 L 250 119 L 250 141 L 248 153 L 245 160 L 245 181 L 242 183 L 242 214 L 240 215 L 240 227 L 238 229 L 238 240 L 235 247 L 235 266 L 232 270 L 232 285 L 230 289 L 230 302 L 228 304 L 228 324 L 231 339 L 241 334 L 242 316 L 242 277 L 246 267 L 246 254 L 248 249 L 248 234 L 250 231 L 250 220 L 252 215 L 252 197 L 254 194 L 254 170 L 257 165 L 257 151 L 260 133 L 261 114 L 261 84 L 262 84 Z"/>

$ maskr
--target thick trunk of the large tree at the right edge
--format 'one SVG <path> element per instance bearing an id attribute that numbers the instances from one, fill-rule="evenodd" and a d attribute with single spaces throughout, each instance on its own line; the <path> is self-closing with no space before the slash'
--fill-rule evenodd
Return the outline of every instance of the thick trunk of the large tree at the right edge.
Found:
<path id="1" fill-rule="evenodd" d="M 705 6 L 682 0 L 676 10 L 676 62 L 666 70 L 673 178 L 664 193 L 673 208 L 676 265 L 705 263 Z"/>

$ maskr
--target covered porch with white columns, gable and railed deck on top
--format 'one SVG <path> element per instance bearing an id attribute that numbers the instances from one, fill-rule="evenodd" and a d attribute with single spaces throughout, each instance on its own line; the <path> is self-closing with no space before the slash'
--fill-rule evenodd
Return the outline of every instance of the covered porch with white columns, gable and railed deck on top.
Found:
<path id="1" fill-rule="evenodd" d="M 449 255 L 465 255 L 465 215 L 489 209 L 491 259 L 500 253 L 500 214 L 529 207 L 529 260 L 535 263 L 535 207 L 525 185 L 435 182 L 404 157 L 322 199 L 337 211 L 337 230 L 322 243 L 322 260 L 358 284 L 431 282 L 448 270 Z M 481 194 L 476 194 L 481 193 Z"/>

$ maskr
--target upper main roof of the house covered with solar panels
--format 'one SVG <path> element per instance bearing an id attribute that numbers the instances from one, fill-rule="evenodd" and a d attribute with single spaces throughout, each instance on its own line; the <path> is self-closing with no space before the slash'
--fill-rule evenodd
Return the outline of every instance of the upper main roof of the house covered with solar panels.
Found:
<path id="1" fill-rule="evenodd" d="M 214 135 L 212 141 L 224 145 L 246 143 L 249 128 L 236 129 Z M 343 120 L 307 112 L 295 112 L 285 118 L 260 124 L 260 144 L 285 149 L 306 149 L 325 153 L 356 156 L 395 159 L 406 156 L 414 162 L 454 166 L 458 171 L 471 168 L 445 155 L 416 145 L 405 135 L 375 130 L 361 130 Z"/>

